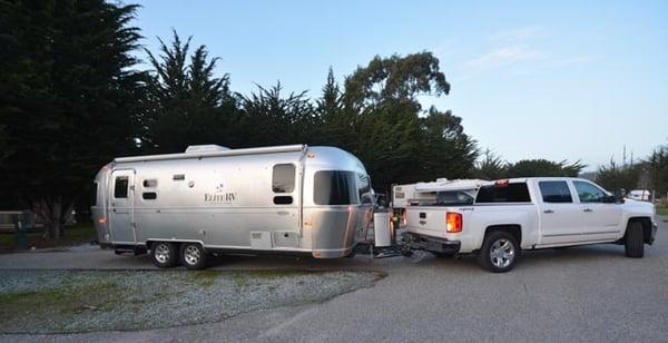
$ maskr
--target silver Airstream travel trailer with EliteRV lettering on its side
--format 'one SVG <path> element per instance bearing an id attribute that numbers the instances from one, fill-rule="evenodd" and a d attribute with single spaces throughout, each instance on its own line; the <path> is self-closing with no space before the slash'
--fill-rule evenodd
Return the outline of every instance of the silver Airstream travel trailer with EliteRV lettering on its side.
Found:
<path id="1" fill-rule="evenodd" d="M 149 251 L 160 267 L 202 268 L 209 253 L 347 256 L 373 210 L 355 156 L 306 145 L 120 157 L 94 189 L 100 245 Z"/>

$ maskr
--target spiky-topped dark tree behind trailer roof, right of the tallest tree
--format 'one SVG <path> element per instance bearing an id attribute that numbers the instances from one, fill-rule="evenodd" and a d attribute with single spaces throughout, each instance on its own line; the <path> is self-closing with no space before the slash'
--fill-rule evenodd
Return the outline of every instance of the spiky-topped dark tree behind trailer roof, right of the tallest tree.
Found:
<path id="1" fill-rule="evenodd" d="M 229 76 L 214 76 L 218 59 L 209 59 L 205 46 L 190 56 L 189 49 L 190 38 L 181 42 L 174 31 L 169 46 L 160 40 L 159 56 L 146 50 L 154 67 L 143 110 L 146 131 L 140 139 L 146 150 L 177 153 L 194 144 L 239 145 L 237 99 L 229 91 Z"/>

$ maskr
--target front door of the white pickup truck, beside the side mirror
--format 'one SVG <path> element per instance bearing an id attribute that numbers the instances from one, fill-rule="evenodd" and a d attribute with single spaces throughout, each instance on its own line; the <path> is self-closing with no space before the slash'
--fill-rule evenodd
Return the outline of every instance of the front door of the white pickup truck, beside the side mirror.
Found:
<path id="1" fill-rule="evenodd" d="M 583 241 L 615 239 L 621 234 L 621 205 L 606 204 L 603 189 L 573 180 L 580 200 L 580 233 Z"/>

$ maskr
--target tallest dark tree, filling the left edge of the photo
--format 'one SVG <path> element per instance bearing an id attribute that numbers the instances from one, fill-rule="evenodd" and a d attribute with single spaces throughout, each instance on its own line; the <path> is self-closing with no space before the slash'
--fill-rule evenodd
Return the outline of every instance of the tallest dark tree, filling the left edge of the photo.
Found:
<path id="1" fill-rule="evenodd" d="M 134 148 L 144 76 L 130 51 L 136 6 L 104 0 L 0 2 L 0 192 L 52 237 L 95 173 Z"/>

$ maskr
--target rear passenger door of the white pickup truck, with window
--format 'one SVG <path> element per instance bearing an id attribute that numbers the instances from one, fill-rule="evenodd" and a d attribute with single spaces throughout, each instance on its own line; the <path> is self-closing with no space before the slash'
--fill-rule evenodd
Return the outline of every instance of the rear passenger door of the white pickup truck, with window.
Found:
<path id="1" fill-rule="evenodd" d="M 540 245 L 579 242 L 580 208 L 566 180 L 538 182 L 537 199 L 540 217 Z"/>

